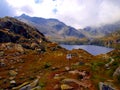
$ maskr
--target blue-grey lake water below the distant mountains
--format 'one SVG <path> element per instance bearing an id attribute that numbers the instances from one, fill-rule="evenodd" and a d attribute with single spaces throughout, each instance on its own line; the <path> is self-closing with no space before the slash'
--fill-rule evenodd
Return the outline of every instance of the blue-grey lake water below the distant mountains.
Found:
<path id="1" fill-rule="evenodd" d="M 61 46 L 68 50 L 83 49 L 91 53 L 92 55 L 105 54 L 113 50 L 112 48 L 106 48 L 106 47 L 95 46 L 95 45 L 61 45 Z"/>

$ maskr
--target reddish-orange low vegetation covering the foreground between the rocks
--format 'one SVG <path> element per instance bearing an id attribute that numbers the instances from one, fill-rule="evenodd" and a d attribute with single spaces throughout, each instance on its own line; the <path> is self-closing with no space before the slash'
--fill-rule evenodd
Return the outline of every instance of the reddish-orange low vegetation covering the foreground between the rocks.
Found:
<path id="1" fill-rule="evenodd" d="M 108 74 L 103 74 L 106 72 L 103 66 L 107 59 L 102 61 L 102 64 L 100 63 L 101 66 L 98 64 L 101 62 L 102 56 L 92 56 L 81 49 L 68 51 L 59 47 L 51 50 L 51 47 L 46 47 L 44 53 L 29 49 L 25 49 L 24 53 L 14 48 L 1 49 L 4 55 L 0 57 L 0 60 L 4 59 L 5 66 L 0 67 L 0 77 L 2 77 L 0 87 L 9 88 L 10 76 L 8 73 L 11 69 L 18 73 L 15 77 L 17 86 L 24 82 L 30 83 L 40 76 L 39 85 L 42 85 L 44 90 L 61 90 L 62 81 L 66 78 L 78 80 L 77 82 L 80 83 L 80 85 L 74 82 L 67 83 L 74 87 L 72 90 L 83 89 L 82 85 L 88 85 L 89 90 L 96 90 L 101 80 L 105 81 L 111 78 Z M 54 47 L 58 47 L 57 44 L 53 45 Z M 72 55 L 70 60 L 67 60 L 67 54 Z M 98 66 L 94 66 L 94 63 L 97 63 Z M 65 67 L 70 67 L 70 70 L 67 71 Z M 81 74 L 84 71 L 88 73 L 88 76 L 82 79 Z M 56 77 L 57 75 L 58 77 Z"/>

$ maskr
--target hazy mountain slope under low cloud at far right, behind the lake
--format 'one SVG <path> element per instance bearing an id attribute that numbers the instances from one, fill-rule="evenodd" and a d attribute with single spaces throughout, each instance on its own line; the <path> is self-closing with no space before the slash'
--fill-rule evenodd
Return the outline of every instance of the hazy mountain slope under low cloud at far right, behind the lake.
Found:
<path id="1" fill-rule="evenodd" d="M 120 21 L 115 22 L 113 24 L 105 24 L 98 27 L 88 26 L 84 29 L 80 29 L 79 31 L 83 33 L 88 38 L 101 38 L 112 32 L 120 30 Z"/>

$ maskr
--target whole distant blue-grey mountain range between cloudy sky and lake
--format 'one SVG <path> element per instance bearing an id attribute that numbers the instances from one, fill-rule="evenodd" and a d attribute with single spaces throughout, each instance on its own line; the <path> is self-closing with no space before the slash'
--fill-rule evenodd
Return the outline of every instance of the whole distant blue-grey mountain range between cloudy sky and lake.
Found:
<path id="1" fill-rule="evenodd" d="M 30 17 L 25 14 L 15 18 L 37 28 L 49 38 L 49 40 L 62 43 L 72 42 L 72 44 L 90 44 L 91 40 L 100 39 L 120 30 L 120 21 L 101 25 L 99 27 L 88 26 L 77 30 L 57 19 Z"/>

